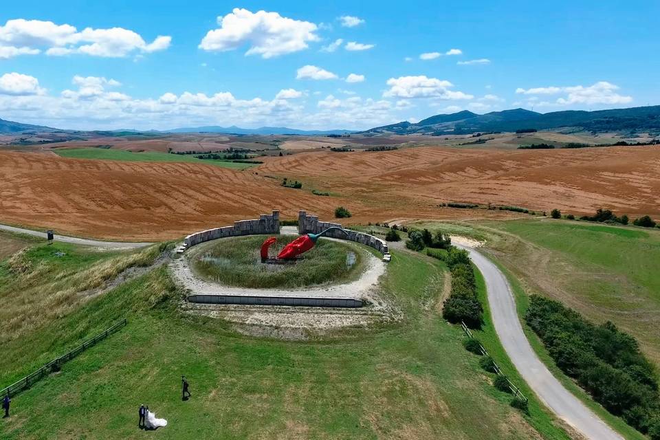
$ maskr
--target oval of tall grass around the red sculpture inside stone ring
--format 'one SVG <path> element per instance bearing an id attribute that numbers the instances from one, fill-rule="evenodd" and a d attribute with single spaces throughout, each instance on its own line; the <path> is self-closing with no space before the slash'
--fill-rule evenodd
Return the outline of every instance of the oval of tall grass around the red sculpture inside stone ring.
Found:
<path id="1" fill-rule="evenodd" d="M 239 287 L 303 287 L 346 281 L 362 272 L 364 253 L 355 245 L 319 239 L 303 259 L 293 264 L 261 263 L 261 243 L 268 236 L 234 237 L 199 245 L 190 255 L 203 278 Z M 271 252 L 279 252 L 296 237 L 277 236 Z M 352 258 L 351 258 L 352 256 Z"/>

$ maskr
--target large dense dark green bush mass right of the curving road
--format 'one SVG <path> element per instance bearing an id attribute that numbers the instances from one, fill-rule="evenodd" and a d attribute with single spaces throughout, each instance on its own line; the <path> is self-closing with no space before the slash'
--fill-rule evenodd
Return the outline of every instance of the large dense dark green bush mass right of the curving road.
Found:
<path id="1" fill-rule="evenodd" d="M 631 426 L 650 430 L 660 408 L 654 367 L 612 322 L 594 325 L 554 300 L 532 295 L 525 321 L 556 364 L 593 399 Z"/>

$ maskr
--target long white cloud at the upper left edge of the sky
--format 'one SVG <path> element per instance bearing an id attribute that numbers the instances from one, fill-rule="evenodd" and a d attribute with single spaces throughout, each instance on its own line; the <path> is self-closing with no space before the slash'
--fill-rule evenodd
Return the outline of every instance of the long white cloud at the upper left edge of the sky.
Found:
<path id="1" fill-rule="evenodd" d="M 124 28 L 78 30 L 69 24 L 52 21 L 14 19 L 0 26 L 0 58 L 21 54 L 50 56 L 86 54 L 122 57 L 137 52 L 156 52 L 169 47 L 170 36 L 157 36 L 146 43 L 140 34 Z"/>

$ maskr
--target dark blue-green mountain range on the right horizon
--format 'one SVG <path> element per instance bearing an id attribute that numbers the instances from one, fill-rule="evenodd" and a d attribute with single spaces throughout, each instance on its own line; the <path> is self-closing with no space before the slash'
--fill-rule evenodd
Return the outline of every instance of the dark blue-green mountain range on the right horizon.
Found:
<path id="1" fill-rule="evenodd" d="M 537 113 L 525 109 L 492 111 L 478 115 L 459 111 L 434 115 L 416 123 L 398 122 L 378 126 L 362 133 L 382 134 L 467 134 L 475 131 L 516 131 L 524 129 L 558 129 L 579 127 L 587 131 L 660 131 L 660 105 L 597 111 L 553 111 Z"/>

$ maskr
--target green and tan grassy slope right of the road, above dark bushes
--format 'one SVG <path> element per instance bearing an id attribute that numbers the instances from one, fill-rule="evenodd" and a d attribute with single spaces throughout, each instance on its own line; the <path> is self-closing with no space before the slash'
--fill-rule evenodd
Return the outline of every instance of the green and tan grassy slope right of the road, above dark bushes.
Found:
<path id="1" fill-rule="evenodd" d="M 612 320 L 660 366 L 660 231 L 552 220 L 487 224 L 532 244 L 500 236 L 488 245 L 527 290 L 596 322 Z"/>

